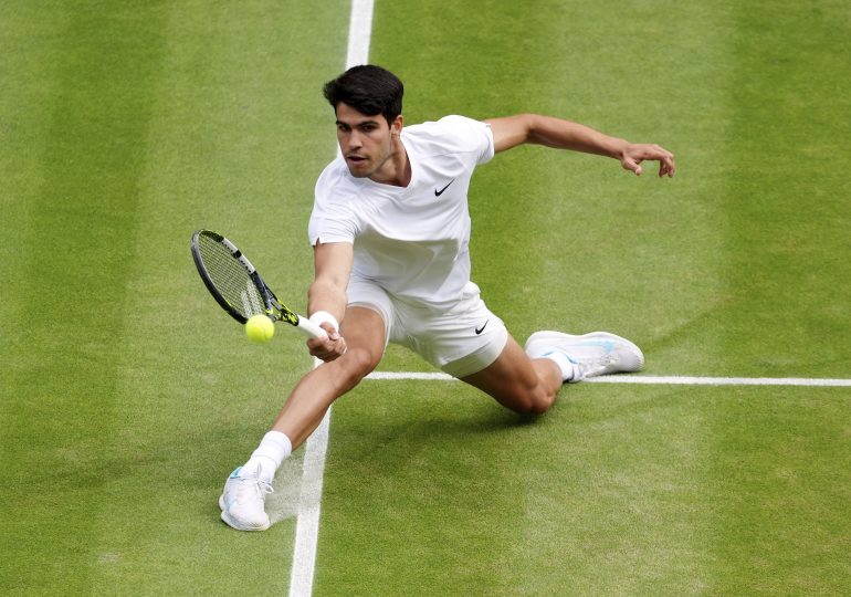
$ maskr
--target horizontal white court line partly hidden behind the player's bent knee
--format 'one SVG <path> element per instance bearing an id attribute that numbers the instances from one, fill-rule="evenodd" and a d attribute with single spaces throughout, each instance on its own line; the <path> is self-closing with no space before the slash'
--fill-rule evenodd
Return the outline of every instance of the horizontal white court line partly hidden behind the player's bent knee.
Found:
<path id="1" fill-rule="evenodd" d="M 455 378 L 443 373 L 396 373 L 372 371 L 367 379 L 437 379 L 453 381 Z M 592 377 L 585 383 L 592 384 L 637 384 L 637 385 L 677 385 L 677 386 L 819 386 L 851 387 L 851 379 L 824 379 L 809 377 L 689 377 L 689 376 L 607 376 Z"/>

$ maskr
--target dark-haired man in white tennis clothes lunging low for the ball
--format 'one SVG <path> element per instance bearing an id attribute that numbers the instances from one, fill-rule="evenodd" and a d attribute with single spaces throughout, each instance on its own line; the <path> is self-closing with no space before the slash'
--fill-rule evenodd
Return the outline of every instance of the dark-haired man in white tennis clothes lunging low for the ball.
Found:
<path id="1" fill-rule="evenodd" d="M 670 151 L 532 114 L 403 128 L 402 83 L 378 66 L 355 66 L 324 92 L 342 155 L 319 176 L 308 226 L 308 313 L 328 335 L 307 346 L 325 363 L 301 379 L 228 479 L 221 516 L 241 531 L 269 527 L 264 500 L 281 462 L 378 365 L 388 342 L 529 413 L 547 411 L 565 381 L 644 363 L 638 346 L 605 332 L 537 332 L 521 348 L 470 281 L 467 186 L 475 166 L 523 144 L 613 157 L 635 175 L 658 160 L 660 177 L 674 175 Z"/>

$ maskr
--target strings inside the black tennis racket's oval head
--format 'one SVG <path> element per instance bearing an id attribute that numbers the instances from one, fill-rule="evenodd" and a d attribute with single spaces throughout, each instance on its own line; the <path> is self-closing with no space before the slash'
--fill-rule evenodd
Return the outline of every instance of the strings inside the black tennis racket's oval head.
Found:
<path id="1" fill-rule="evenodd" d="M 198 249 L 210 281 L 231 307 L 245 318 L 265 313 L 263 297 L 254 281 L 227 247 L 201 235 Z"/>

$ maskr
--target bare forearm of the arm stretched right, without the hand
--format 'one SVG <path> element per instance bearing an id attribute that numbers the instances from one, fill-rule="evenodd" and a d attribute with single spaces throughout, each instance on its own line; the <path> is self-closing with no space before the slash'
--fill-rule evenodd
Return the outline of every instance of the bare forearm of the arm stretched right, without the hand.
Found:
<path id="1" fill-rule="evenodd" d="M 629 145 L 626 139 L 606 135 L 589 126 L 539 115 L 529 116 L 527 143 L 616 159 L 620 159 Z"/>

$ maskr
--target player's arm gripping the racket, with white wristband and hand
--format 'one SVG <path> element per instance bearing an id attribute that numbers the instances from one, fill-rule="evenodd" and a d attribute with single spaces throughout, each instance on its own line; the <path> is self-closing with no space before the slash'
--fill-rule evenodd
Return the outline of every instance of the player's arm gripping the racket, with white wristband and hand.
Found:
<path id="1" fill-rule="evenodd" d="M 338 326 L 346 311 L 346 286 L 354 259 L 348 242 L 317 243 L 314 247 L 314 281 L 307 291 L 311 321 L 328 333 L 328 337 L 307 341 L 311 355 L 328 362 L 346 352 L 346 339 Z"/>

